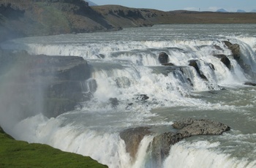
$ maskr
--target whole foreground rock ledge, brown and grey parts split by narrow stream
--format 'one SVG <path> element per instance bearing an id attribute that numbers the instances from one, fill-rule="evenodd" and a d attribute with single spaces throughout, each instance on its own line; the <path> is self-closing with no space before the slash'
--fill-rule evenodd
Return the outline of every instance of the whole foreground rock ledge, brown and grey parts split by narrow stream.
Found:
<path id="1" fill-rule="evenodd" d="M 141 140 L 143 140 L 143 137 L 157 134 L 154 136 L 151 145 L 148 146 L 148 150 L 151 150 L 151 165 L 153 167 L 161 167 L 162 161 L 164 161 L 169 154 L 171 145 L 191 136 L 219 135 L 225 131 L 229 131 L 230 127 L 208 119 L 197 120 L 186 118 L 181 121 L 175 121 L 173 123 L 173 129 L 176 129 L 176 131 L 157 134 L 157 132 L 151 131 L 154 130 L 151 126 L 132 128 L 122 131 L 120 137 L 126 144 L 127 152 L 130 153 L 132 159 L 135 159 L 138 146 Z"/>

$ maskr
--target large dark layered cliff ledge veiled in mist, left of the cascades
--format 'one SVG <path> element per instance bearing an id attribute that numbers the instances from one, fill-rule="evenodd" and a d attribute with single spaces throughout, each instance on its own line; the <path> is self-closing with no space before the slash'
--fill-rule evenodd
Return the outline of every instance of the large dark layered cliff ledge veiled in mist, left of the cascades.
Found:
<path id="1" fill-rule="evenodd" d="M 0 107 L 12 106 L 23 117 L 37 112 L 56 117 L 88 100 L 83 83 L 89 77 L 89 66 L 80 57 L 1 51 Z"/>

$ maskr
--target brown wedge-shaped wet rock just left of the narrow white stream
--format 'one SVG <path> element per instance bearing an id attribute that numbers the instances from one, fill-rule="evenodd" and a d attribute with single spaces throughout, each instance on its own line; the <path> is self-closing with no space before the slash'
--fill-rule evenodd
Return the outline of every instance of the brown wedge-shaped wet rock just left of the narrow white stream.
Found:
<path id="1" fill-rule="evenodd" d="M 132 159 L 135 159 L 141 140 L 148 134 L 151 134 L 148 127 L 131 128 L 121 131 L 120 137 L 124 140 L 126 150 Z"/>

